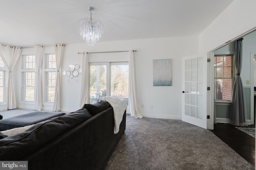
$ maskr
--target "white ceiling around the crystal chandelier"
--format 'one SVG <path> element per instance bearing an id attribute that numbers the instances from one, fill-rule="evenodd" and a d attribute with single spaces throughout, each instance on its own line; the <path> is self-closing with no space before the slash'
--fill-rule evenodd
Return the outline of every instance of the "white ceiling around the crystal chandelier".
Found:
<path id="1" fill-rule="evenodd" d="M 15 46 L 84 43 L 77 21 L 104 25 L 99 42 L 199 35 L 233 0 L 5 0 L 0 43 Z"/>

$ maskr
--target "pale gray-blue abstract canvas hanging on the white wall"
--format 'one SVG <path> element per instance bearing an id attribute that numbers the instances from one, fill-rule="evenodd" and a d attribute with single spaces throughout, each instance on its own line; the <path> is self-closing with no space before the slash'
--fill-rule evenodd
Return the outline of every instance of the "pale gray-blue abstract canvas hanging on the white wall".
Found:
<path id="1" fill-rule="evenodd" d="M 153 86 L 172 86 L 171 59 L 153 60 Z"/>

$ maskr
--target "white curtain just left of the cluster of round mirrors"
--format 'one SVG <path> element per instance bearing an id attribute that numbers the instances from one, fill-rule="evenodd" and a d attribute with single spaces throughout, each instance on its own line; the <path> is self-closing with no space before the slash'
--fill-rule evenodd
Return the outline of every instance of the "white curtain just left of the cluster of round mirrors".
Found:
<path id="1" fill-rule="evenodd" d="M 55 57 L 56 57 L 56 86 L 55 86 L 55 95 L 54 95 L 54 104 L 52 111 L 60 111 L 60 89 L 61 89 L 61 80 L 60 80 L 60 70 L 61 63 L 64 54 L 65 44 L 55 44 Z"/>

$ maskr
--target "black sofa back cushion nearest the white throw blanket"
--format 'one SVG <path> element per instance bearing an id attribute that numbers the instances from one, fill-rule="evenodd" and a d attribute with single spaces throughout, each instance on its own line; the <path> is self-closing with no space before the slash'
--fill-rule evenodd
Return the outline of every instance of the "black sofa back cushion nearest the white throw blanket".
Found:
<path id="1" fill-rule="evenodd" d="M 108 102 L 97 102 L 94 104 L 85 104 L 82 109 L 87 109 L 89 113 L 94 116 L 97 113 L 100 113 L 101 111 L 107 109 L 108 107 L 111 107 Z"/>

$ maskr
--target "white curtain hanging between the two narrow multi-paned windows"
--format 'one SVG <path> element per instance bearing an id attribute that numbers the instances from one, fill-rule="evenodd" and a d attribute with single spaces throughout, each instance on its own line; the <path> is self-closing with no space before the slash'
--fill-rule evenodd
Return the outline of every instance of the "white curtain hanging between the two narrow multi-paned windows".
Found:
<path id="1" fill-rule="evenodd" d="M 42 78 L 41 68 L 44 57 L 44 47 L 42 45 L 35 45 L 35 107 L 36 110 L 42 110 Z"/>

